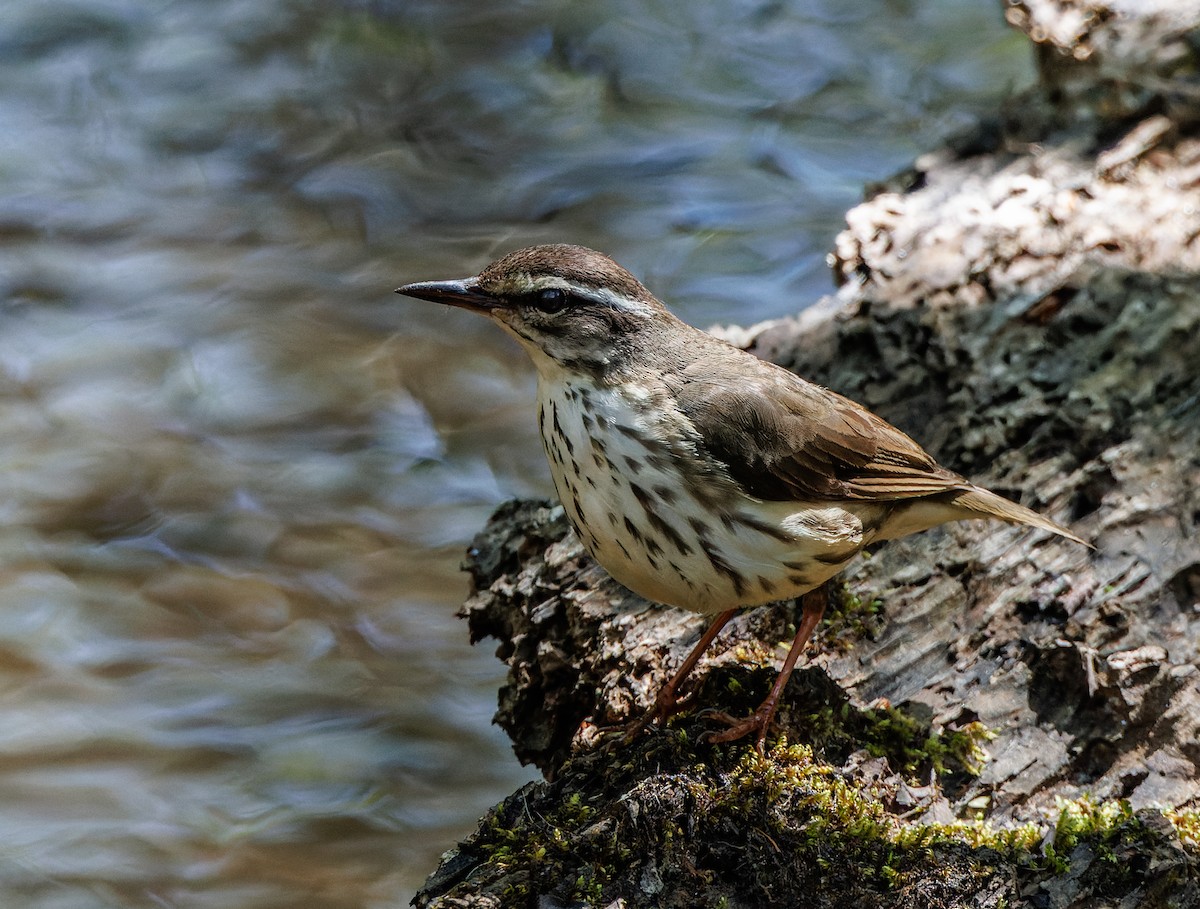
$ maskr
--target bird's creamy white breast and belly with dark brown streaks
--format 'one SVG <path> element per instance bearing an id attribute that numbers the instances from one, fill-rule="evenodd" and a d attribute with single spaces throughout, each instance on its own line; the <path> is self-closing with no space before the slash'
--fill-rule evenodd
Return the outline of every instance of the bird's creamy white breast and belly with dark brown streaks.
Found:
<path id="1" fill-rule="evenodd" d="M 538 398 L 554 486 L 576 532 L 648 600 L 716 613 L 798 596 L 866 542 L 863 519 L 874 514 L 762 502 L 706 470 L 690 423 L 638 389 L 558 380 L 541 384 Z"/>

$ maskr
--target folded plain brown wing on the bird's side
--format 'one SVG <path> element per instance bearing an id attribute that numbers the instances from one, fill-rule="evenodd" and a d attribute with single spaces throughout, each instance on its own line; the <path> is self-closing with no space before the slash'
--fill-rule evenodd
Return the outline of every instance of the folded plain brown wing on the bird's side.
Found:
<path id="1" fill-rule="evenodd" d="M 749 368 L 731 386 L 692 363 L 676 392 L 708 451 L 752 495 L 880 501 L 970 486 L 848 398 L 770 363 L 739 366 Z"/>

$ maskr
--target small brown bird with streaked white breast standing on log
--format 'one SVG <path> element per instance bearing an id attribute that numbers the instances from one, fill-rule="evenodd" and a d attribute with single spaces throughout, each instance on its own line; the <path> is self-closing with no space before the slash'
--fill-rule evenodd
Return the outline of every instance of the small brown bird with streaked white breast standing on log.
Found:
<path id="1" fill-rule="evenodd" d="M 761 746 L 824 614 L 822 585 L 870 543 L 973 518 L 1084 543 L 854 402 L 680 321 L 593 249 L 518 249 L 475 277 L 396 293 L 482 313 L 521 343 L 554 488 L 584 547 L 647 600 L 716 615 L 637 728 L 674 711 L 738 609 L 806 595 L 770 694 L 710 736 L 754 733 Z"/>

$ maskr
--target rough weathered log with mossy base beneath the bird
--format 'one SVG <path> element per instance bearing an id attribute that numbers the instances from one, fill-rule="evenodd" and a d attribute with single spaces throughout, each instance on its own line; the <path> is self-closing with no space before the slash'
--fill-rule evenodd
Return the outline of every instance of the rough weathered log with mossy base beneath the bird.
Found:
<path id="1" fill-rule="evenodd" d="M 1039 86 L 847 215 L 835 296 L 726 331 L 1094 552 L 976 522 L 858 560 L 780 712 L 811 751 L 758 758 L 601 734 L 703 620 L 510 502 L 464 613 L 551 782 L 418 905 L 1200 905 L 1200 4 L 1126 7 L 1007 4 Z M 731 622 L 697 704 L 749 710 L 797 618 Z"/>

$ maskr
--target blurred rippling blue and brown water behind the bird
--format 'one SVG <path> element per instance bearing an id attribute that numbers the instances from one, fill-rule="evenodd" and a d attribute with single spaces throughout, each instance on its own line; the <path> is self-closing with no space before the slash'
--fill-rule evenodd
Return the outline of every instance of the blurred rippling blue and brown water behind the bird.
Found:
<path id="1" fill-rule="evenodd" d="M 406 902 L 528 778 L 452 614 L 548 484 L 520 353 L 391 288 L 792 312 L 1028 78 L 977 0 L 6 0 L 0 905 Z"/>

